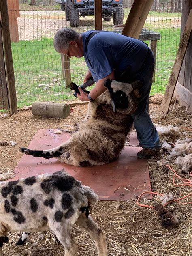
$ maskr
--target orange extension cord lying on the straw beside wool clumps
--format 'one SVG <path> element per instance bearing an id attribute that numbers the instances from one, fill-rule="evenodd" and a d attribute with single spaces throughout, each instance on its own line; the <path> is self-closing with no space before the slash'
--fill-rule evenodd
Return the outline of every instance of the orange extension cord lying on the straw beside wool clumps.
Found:
<path id="1" fill-rule="evenodd" d="M 184 185 L 188 185 L 188 186 L 192 187 L 192 182 L 190 181 L 190 179 L 181 178 L 181 177 L 175 172 L 175 170 L 173 170 L 168 164 L 166 164 L 166 167 L 168 167 L 169 170 L 171 170 L 171 171 L 174 172 L 172 178 L 173 178 L 173 184 L 174 184 L 175 186 L 184 186 Z M 190 172 L 189 175 L 192 176 L 192 172 Z M 177 177 L 178 179 L 180 179 L 183 183 L 182 183 L 182 184 L 176 184 L 176 183 L 175 183 L 175 177 Z M 160 196 L 163 195 L 163 194 L 156 193 L 156 192 L 151 192 L 151 191 L 146 191 L 146 192 L 141 193 L 141 195 L 140 195 L 140 196 L 138 197 L 138 199 L 137 199 L 136 204 L 139 205 L 139 206 L 148 207 L 148 208 L 152 208 L 152 209 L 154 209 L 155 207 L 154 207 L 154 206 L 151 206 L 151 205 L 140 204 L 140 203 L 139 203 L 139 200 L 140 200 L 140 198 L 141 198 L 141 196 L 142 196 L 143 194 L 155 194 L 155 195 L 160 195 Z M 164 204 L 163 206 L 166 206 L 166 205 L 169 204 L 170 202 L 180 201 L 180 200 L 182 200 L 182 199 L 184 199 L 184 198 L 186 198 L 186 197 L 188 197 L 188 196 L 191 196 L 191 195 L 192 195 L 192 193 L 190 193 L 190 194 L 188 194 L 188 195 L 186 195 L 186 196 L 183 196 L 183 197 L 181 197 L 181 198 L 173 199 L 173 200 L 167 202 L 166 204 Z M 192 202 L 187 202 L 187 203 L 186 203 L 186 202 L 184 202 L 184 203 L 183 203 L 183 202 L 179 202 L 179 204 L 192 204 Z"/>

